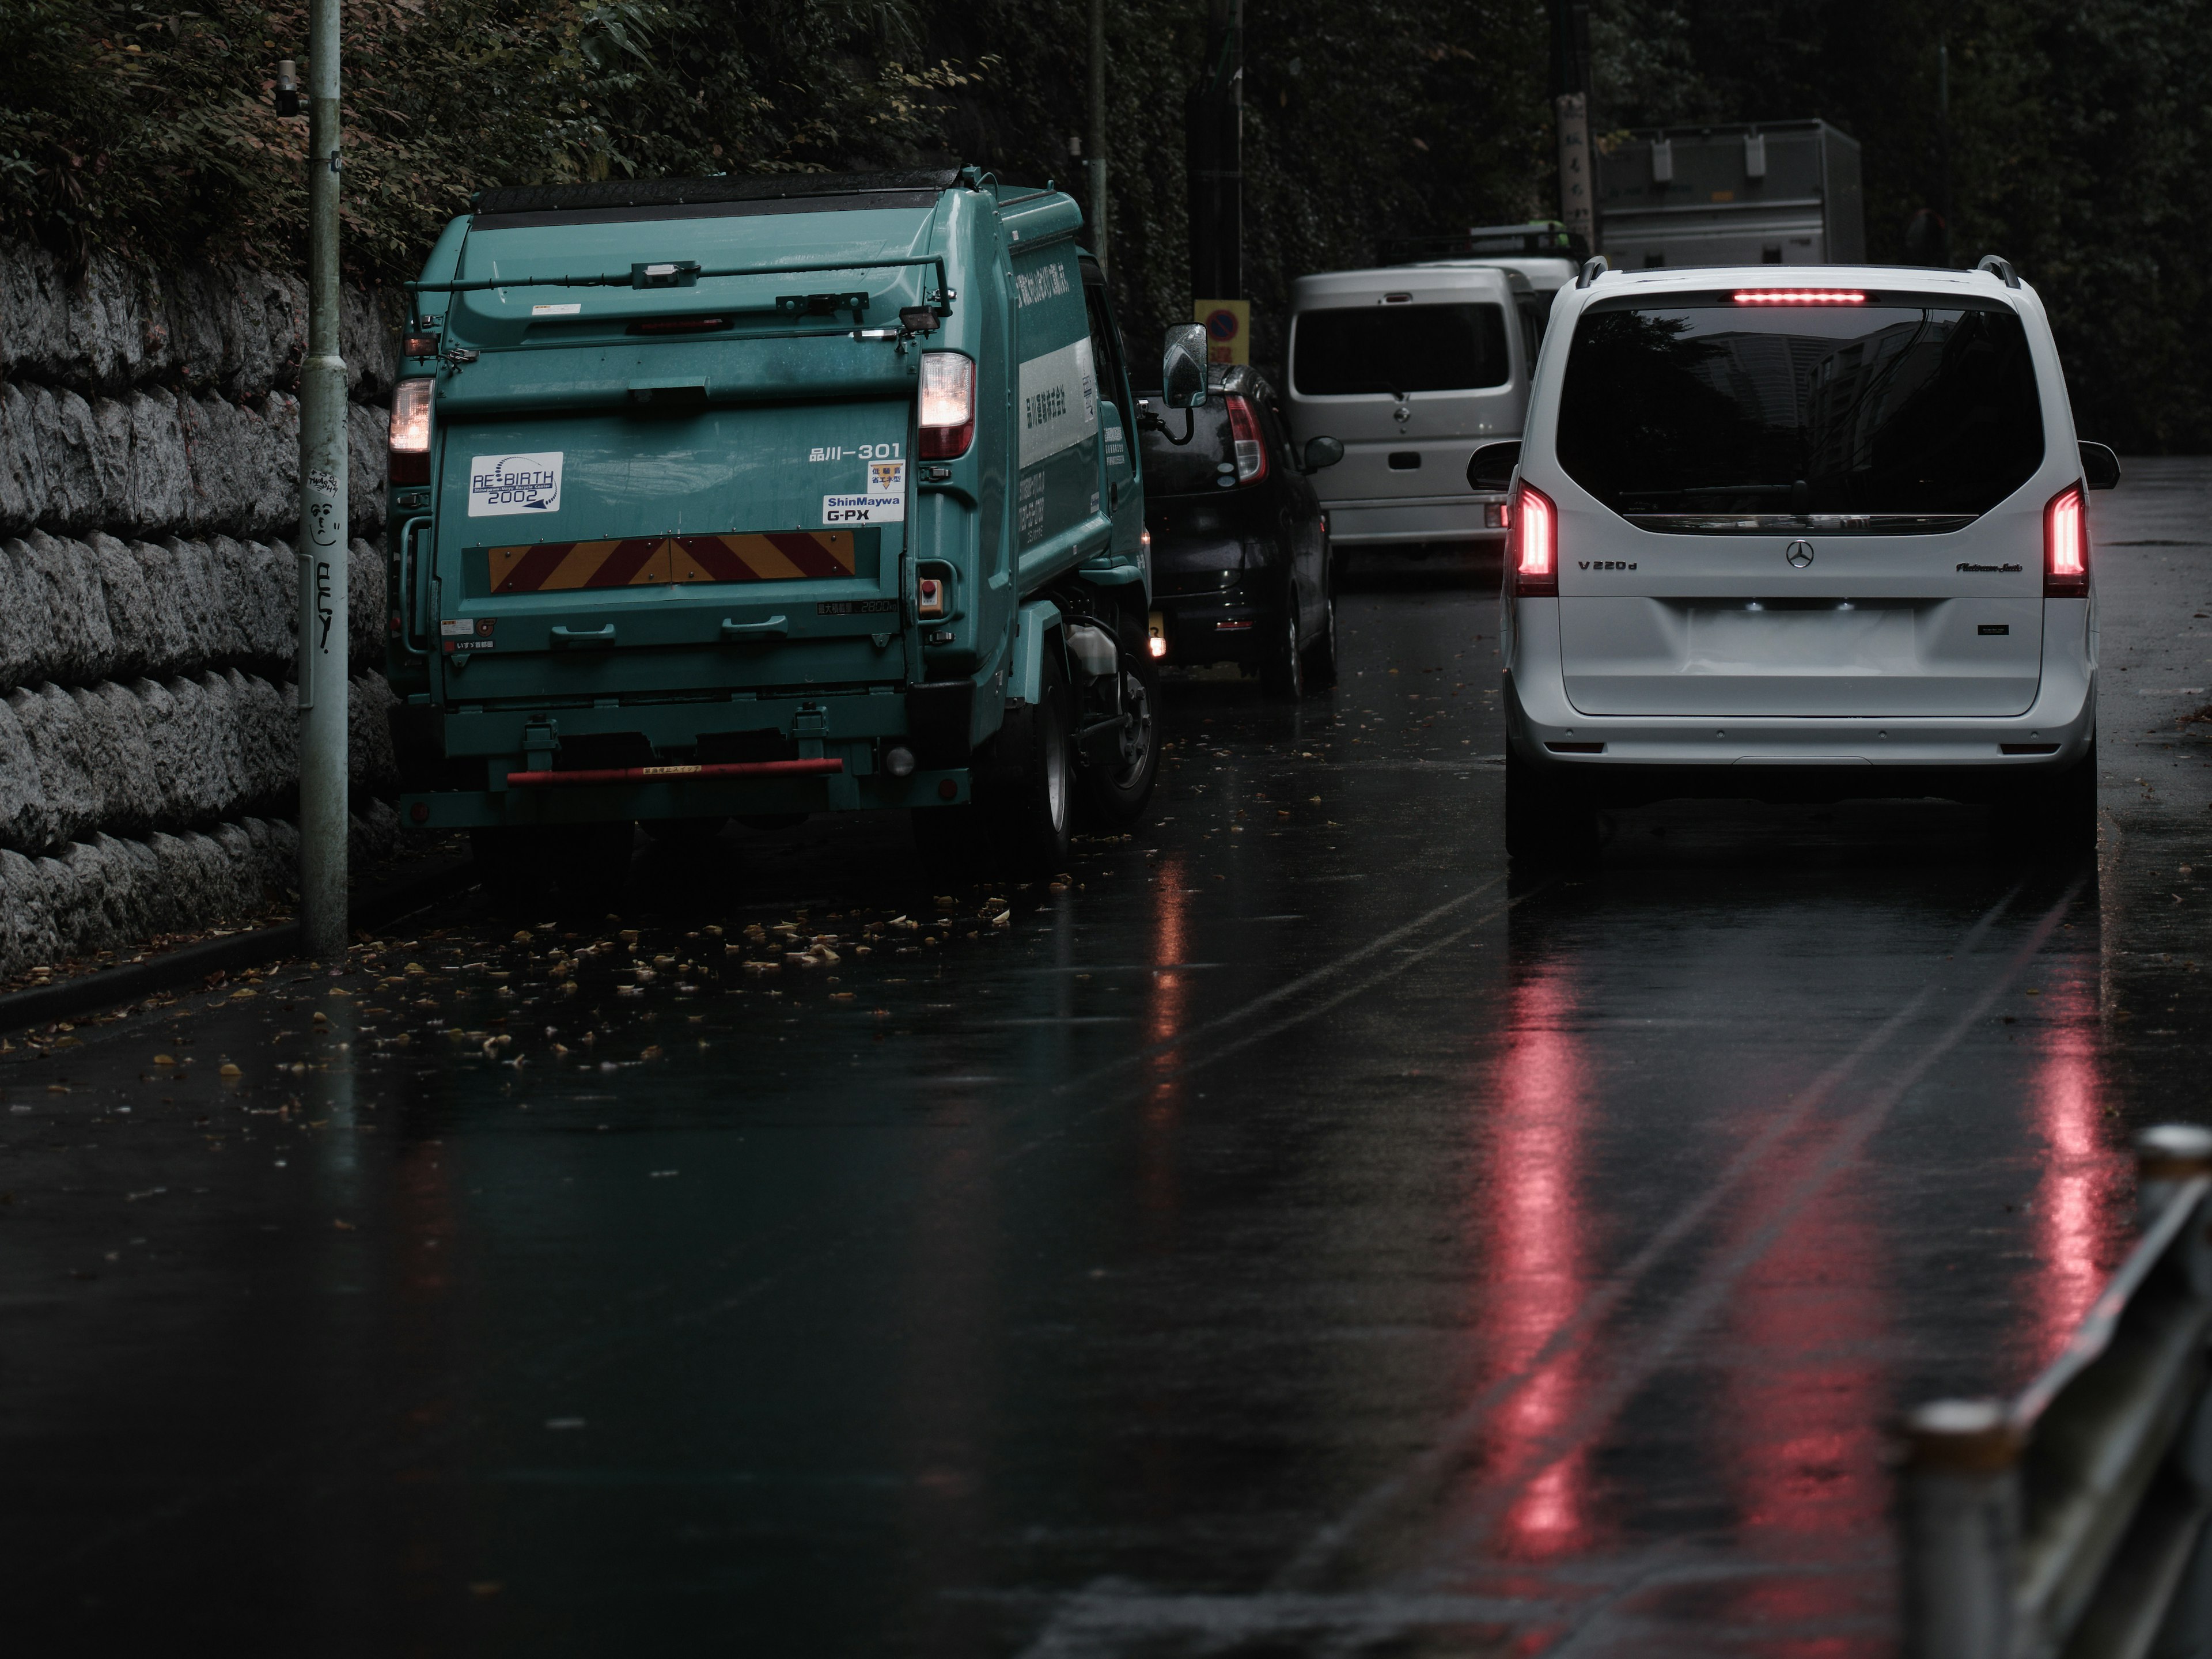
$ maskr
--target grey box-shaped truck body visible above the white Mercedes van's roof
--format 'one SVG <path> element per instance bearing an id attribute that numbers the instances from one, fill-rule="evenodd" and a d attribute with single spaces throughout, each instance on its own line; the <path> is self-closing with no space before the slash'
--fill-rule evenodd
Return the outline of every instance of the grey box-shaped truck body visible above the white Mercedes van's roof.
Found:
<path id="1" fill-rule="evenodd" d="M 1626 133 L 1597 153 L 1597 237 L 1615 270 L 1860 265 L 1858 139 L 1827 122 Z"/>

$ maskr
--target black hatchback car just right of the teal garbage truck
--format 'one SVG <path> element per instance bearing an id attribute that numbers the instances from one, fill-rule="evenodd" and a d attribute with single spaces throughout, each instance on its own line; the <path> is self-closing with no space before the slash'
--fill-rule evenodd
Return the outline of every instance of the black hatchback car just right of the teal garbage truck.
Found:
<path id="1" fill-rule="evenodd" d="M 1137 405 L 1152 657 L 1234 661 L 1283 697 L 1334 684 L 1329 526 L 1307 473 L 1343 445 L 1314 438 L 1294 460 L 1274 387 L 1243 365 L 1210 369 L 1197 409 L 1166 411 L 1157 392 Z"/>

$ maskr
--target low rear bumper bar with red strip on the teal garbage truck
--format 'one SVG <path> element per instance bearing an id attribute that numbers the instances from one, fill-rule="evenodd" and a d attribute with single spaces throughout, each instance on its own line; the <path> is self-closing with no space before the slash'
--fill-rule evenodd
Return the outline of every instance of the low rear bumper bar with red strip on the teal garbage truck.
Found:
<path id="1" fill-rule="evenodd" d="M 936 770 L 894 779 L 887 772 L 781 776 L 684 776 L 641 783 L 571 783 L 522 790 L 429 790 L 400 796 L 400 823 L 418 830 L 498 830 L 622 818 L 748 818 L 787 812 L 872 812 L 949 807 L 971 799 L 969 772 Z"/>

